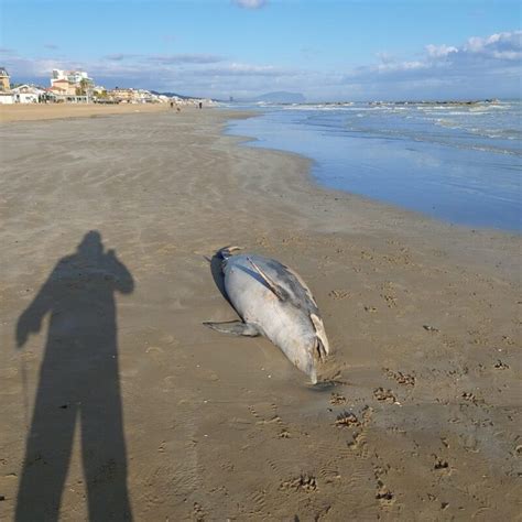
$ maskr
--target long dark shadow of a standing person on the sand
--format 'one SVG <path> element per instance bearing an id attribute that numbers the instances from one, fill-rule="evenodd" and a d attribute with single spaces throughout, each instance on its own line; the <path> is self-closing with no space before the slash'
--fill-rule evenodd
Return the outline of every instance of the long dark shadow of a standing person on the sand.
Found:
<path id="1" fill-rule="evenodd" d="M 50 323 L 14 520 L 58 519 L 76 423 L 89 520 L 131 519 L 115 292 L 132 291 L 130 272 L 89 231 L 20 316 L 19 348 L 47 314 Z"/>

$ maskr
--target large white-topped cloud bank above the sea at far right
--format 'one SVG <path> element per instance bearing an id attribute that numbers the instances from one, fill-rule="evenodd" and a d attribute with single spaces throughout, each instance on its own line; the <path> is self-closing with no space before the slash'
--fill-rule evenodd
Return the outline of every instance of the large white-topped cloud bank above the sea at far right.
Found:
<path id="1" fill-rule="evenodd" d="M 458 46 L 429 44 L 417 59 L 378 56 L 380 63 L 344 75 L 347 88 L 385 99 L 518 96 L 522 31 L 474 36 Z"/>

